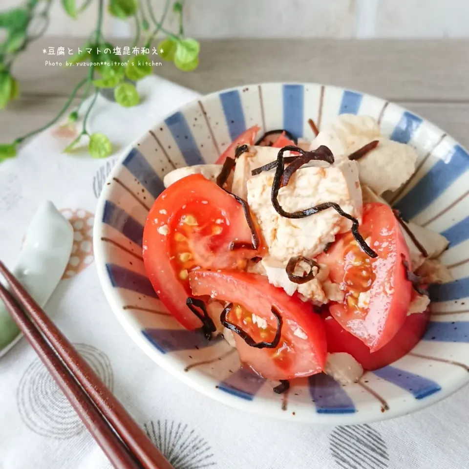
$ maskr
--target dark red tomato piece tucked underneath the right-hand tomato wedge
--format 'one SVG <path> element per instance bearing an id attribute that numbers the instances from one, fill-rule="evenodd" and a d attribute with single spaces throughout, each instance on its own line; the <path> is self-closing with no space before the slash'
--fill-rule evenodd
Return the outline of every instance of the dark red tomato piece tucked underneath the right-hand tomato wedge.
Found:
<path id="1" fill-rule="evenodd" d="M 422 339 L 429 319 L 428 309 L 423 313 L 407 316 L 396 335 L 386 345 L 371 353 L 360 339 L 347 332 L 339 322 L 329 316 L 323 322 L 327 337 L 327 351 L 349 353 L 362 364 L 363 369 L 377 370 L 407 355 Z"/>

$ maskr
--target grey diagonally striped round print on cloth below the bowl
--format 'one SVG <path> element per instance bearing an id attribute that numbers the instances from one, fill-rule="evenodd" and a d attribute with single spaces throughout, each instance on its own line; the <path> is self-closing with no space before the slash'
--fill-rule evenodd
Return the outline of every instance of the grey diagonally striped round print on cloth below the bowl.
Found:
<path id="1" fill-rule="evenodd" d="M 389 456 L 380 433 L 371 426 L 338 426 L 329 437 L 329 448 L 340 469 L 387 469 Z"/>

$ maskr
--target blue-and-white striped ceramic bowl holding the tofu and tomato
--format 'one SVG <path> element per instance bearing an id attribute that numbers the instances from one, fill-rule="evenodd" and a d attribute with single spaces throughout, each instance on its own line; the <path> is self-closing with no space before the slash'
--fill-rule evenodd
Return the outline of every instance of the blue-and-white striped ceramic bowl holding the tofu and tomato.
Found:
<path id="1" fill-rule="evenodd" d="M 142 230 L 163 176 L 211 163 L 246 128 L 286 128 L 313 139 L 341 113 L 375 117 L 384 135 L 409 143 L 418 168 L 392 199 L 402 213 L 444 234 L 453 282 L 431 289 L 432 318 L 424 339 L 404 358 L 341 386 L 326 375 L 292 383 L 287 395 L 240 369 L 222 340 L 207 342 L 166 311 L 145 275 Z M 396 417 L 435 403 L 469 379 L 469 156 L 443 130 L 382 99 L 317 84 L 249 85 L 213 93 L 156 123 L 122 156 L 96 212 L 94 252 L 117 318 L 148 355 L 195 389 L 240 409 L 277 418 L 352 424 Z M 468 306 L 466 306 L 468 301 Z"/>

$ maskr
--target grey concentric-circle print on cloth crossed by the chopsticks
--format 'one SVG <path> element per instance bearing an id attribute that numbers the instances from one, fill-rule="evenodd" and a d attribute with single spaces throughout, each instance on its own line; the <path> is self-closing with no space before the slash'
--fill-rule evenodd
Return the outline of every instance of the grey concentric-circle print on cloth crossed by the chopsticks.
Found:
<path id="1" fill-rule="evenodd" d="M 112 390 L 113 373 L 107 355 L 92 345 L 74 345 L 103 383 Z M 39 435 L 65 440 L 85 430 L 77 413 L 39 359 L 34 360 L 21 377 L 17 405 L 21 420 Z"/>

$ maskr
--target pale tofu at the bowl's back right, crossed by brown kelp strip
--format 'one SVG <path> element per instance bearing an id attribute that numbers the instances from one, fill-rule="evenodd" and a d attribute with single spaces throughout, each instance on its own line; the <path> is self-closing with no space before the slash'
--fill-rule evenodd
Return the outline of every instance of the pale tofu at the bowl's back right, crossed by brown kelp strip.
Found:
<path id="1" fill-rule="evenodd" d="M 380 143 L 358 160 L 360 182 L 378 194 L 395 191 L 415 171 L 417 153 L 409 145 L 382 137 L 379 125 L 372 117 L 341 114 L 320 131 L 311 149 L 325 145 L 336 162 L 340 162 L 373 140 Z"/>

